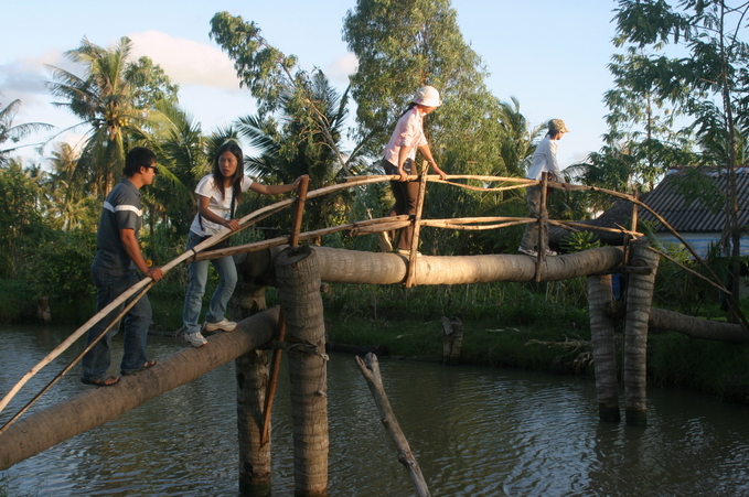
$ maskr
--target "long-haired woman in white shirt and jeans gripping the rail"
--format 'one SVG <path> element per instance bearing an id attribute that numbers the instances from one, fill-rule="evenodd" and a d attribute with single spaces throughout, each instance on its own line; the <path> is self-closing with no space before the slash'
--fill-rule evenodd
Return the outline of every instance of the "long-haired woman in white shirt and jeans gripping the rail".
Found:
<path id="1" fill-rule="evenodd" d="M 234 219 L 237 205 L 242 202 L 242 193 L 247 190 L 263 195 L 277 195 L 290 192 L 299 185 L 301 176 L 293 183 L 285 185 L 264 185 L 245 176 L 245 161 L 242 149 L 234 141 L 227 141 L 218 148 L 213 161 L 213 173 L 197 183 L 197 214 L 190 226 L 188 235 L 188 250 L 206 238 L 217 234 L 223 228 L 239 229 L 239 222 Z M 215 248 L 215 246 L 214 246 Z M 237 269 L 231 256 L 212 259 L 211 262 L 218 273 L 218 285 L 213 292 L 205 323 L 202 331 L 232 332 L 236 323 L 226 320 L 226 306 L 237 283 Z M 208 261 L 192 262 L 189 267 L 190 283 L 184 299 L 182 321 L 184 338 L 193 347 L 202 347 L 208 342 L 201 333 L 199 324 L 205 283 L 208 278 Z"/>

